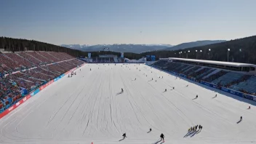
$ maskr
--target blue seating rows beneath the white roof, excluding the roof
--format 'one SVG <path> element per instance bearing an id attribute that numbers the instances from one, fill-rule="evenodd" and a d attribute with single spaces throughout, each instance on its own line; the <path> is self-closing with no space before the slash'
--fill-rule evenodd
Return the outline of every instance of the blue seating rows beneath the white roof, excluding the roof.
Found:
<path id="1" fill-rule="evenodd" d="M 167 60 L 159 60 L 152 65 L 166 71 L 183 73 L 188 77 L 196 78 L 196 80 L 203 80 L 250 95 L 256 95 L 256 76 L 186 63 L 173 63 Z"/>

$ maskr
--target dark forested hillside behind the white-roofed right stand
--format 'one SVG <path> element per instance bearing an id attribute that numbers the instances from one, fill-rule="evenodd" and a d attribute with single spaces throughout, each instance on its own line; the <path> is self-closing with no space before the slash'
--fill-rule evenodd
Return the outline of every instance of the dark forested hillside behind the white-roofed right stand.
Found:
<path id="1" fill-rule="evenodd" d="M 218 44 L 209 44 L 202 47 L 191 47 L 188 49 L 180 49 L 175 51 L 143 53 L 143 55 L 156 55 L 157 58 L 180 57 L 199 60 L 216 60 L 256 64 L 255 54 L 256 36 L 225 41 Z"/>

